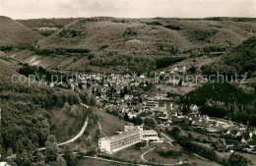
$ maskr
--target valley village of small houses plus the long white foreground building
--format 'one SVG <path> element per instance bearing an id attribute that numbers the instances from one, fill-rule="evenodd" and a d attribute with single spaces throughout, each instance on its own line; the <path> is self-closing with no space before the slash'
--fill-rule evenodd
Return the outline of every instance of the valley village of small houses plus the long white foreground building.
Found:
<path id="1" fill-rule="evenodd" d="M 182 75 L 186 67 L 168 72 Z M 159 72 L 158 75 L 165 73 Z M 217 152 L 256 154 L 255 128 L 201 115 L 197 105 L 184 108 L 179 104 L 178 95 L 152 90 L 154 85 L 160 83 L 156 82 L 154 75 L 156 73 L 107 76 L 80 74 L 64 85 L 71 89 L 86 89 L 89 95 L 96 97 L 96 105 L 101 110 L 132 124 L 124 131 L 117 131 L 116 136 L 99 138 L 98 149 L 101 152 L 112 153 L 140 141 L 164 142 L 167 139 L 160 137 L 161 134 L 177 127 L 182 135 Z M 172 81 L 173 86 L 178 83 Z M 50 83 L 50 86 L 54 85 L 63 87 L 63 83 Z M 171 143 L 178 145 L 175 140 Z"/>

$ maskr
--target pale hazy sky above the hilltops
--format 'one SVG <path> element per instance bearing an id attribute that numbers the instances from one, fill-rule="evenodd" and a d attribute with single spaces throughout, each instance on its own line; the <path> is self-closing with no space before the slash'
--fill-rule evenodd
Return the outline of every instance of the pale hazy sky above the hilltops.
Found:
<path id="1" fill-rule="evenodd" d="M 0 0 L 0 16 L 12 19 L 256 18 L 256 0 Z"/>

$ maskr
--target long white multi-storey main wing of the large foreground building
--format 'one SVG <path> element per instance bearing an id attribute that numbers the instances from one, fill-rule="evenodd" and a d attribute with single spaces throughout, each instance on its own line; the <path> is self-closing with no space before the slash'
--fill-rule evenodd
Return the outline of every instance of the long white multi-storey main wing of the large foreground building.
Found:
<path id="1" fill-rule="evenodd" d="M 113 137 L 99 138 L 98 147 L 102 152 L 113 153 L 140 142 L 142 140 L 142 134 L 142 130 L 132 129 Z"/>

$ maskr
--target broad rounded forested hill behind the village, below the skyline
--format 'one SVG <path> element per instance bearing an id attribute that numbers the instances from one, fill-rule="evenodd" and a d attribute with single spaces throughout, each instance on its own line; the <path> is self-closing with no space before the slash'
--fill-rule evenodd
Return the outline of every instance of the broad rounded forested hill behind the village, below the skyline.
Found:
<path id="1" fill-rule="evenodd" d="M 222 54 L 255 31 L 253 21 L 231 19 L 80 19 L 41 39 L 34 54 L 58 69 L 149 72 L 177 57 Z"/>

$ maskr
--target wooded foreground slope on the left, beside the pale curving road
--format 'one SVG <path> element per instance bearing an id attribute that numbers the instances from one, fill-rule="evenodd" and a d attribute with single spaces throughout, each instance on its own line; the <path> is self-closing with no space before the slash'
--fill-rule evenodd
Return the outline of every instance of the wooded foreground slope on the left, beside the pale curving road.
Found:
<path id="1" fill-rule="evenodd" d="M 5 157 L 15 153 L 17 158 L 13 161 L 19 166 L 32 163 L 39 165 L 39 162 L 44 163 L 45 159 L 49 159 L 46 154 L 37 153 L 36 149 L 45 146 L 45 141 L 51 134 L 54 117 L 50 110 L 61 110 L 58 108 L 65 104 L 72 106 L 80 102 L 86 103 L 88 96 L 46 85 L 12 83 L 12 75 L 19 74 L 9 63 L 0 59 L 1 155 Z M 78 112 L 76 121 L 84 124 L 89 114 L 86 110 Z M 55 160 L 53 158 L 52 162 Z"/>

